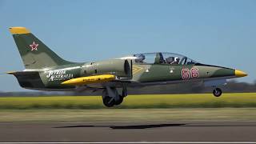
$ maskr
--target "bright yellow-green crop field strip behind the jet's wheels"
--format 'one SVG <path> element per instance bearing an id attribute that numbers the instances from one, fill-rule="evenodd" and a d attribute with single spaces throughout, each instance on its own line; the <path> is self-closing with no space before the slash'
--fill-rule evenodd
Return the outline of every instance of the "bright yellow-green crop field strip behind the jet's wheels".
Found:
<path id="1" fill-rule="evenodd" d="M 255 93 L 223 94 L 215 98 L 212 94 L 160 94 L 129 95 L 122 109 L 146 108 L 216 108 L 216 107 L 256 107 Z M 105 109 L 100 96 L 63 97 L 5 97 L 0 98 L 0 109 Z"/>

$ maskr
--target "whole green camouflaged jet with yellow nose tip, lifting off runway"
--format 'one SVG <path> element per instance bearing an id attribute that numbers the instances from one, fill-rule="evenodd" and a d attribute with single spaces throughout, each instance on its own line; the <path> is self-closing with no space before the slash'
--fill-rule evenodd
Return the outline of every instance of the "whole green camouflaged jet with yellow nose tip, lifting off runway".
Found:
<path id="1" fill-rule="evenodd" d="M 105 106 L 120 105 L 127 96 L 126 87 L 164 85 L 170 83 L 201 82 L 213 87 L 219 97 L 218 86 L 226 79 L 247 74 L 222 66 L 195 62 L 181 54 L 130 54 L 99 62 L 68 62 L 50 50 L 25 27 L 10 27 L 25 66 L 14 74 L 19 85 L 31 90 L 102 90 Z"/>

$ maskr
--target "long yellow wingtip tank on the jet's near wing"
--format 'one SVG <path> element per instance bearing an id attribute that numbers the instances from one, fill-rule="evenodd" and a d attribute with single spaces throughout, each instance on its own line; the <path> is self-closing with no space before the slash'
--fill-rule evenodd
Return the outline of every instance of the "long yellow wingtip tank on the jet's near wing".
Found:
<path id="1" fill-rule="evenodd" d="M 73 78 L 62 82 L 62 85 L 86 85 L 91 83 L 101 83 L 101 82 L 110 82 L 115 79 L 115 76 L 112 74 L 102 74 L 102 75 L 94 75 L 88 77 L 81 77 L 81 78 Z"/>

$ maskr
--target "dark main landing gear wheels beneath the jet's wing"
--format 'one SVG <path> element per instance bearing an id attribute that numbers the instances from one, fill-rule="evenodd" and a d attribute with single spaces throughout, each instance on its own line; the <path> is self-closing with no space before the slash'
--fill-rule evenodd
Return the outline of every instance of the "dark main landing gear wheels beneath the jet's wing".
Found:
<path id="1" fill-rule="evenodd" d="M 118 90 L 115 87 L 106 87 L 102 91 L 102 101 L 107 107 L 118 106 L 122 103 L 123 98 L 127 96 L 126 87 L 122 88 L 122 94 L 118 94 Z"/>

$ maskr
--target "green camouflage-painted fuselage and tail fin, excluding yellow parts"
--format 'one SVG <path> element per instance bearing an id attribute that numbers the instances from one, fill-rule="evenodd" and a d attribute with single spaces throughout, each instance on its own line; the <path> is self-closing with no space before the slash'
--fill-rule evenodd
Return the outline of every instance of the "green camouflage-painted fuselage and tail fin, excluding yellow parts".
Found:
<path id="1" fill-rule="evenodd" d="M 13 73 L 22 84 L 21 86 L 32 89 L 72 89 L 74 86 L 61 85 L 62 82 L 71 78 L 80 78 L 97 74 L 114 74 L 122 78 L 119 82 L 169 82 L 189 81 L 203 78 L 234 77 L 234 70 L 219 66 L 195 66 L 182 64 L 160 64 L 161 53 L 155 53 L 155 62 L 151 64 L 138 63 L 134 59 L 110 59 L 102 62 L 68 62 L 60 58 L 50 50 L 34 34 L 13 34 L 14 41 L 22 57 L 26 70 L 34 71 L 29 73 L 23 71 Z M 126 63 L 128 66 L 124 68 Z M 127 70 L 129 69 L 129 70 Z M 196 78 L 182 78 L 182 70 L 198 70 Z M 22 77 L 22 74 L 24 76 Z M 24 78 L 26 75 L 26 78 Z M 28 76 L 27 76 L 28 75 Z M 30 78 L 31 77 L 31 78 Z M 31 80 L 36 78 L 37 81 Z M 42 83 L 37 85 L 36 83 Z M 31 87 L 30 87 L 31 86 Z M 38 86 L 38 87 L 37 87 Z M 128 84 L 129 86 L 129 84 Z"/>

